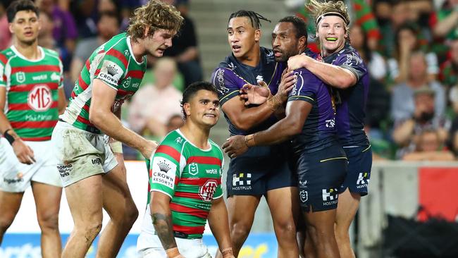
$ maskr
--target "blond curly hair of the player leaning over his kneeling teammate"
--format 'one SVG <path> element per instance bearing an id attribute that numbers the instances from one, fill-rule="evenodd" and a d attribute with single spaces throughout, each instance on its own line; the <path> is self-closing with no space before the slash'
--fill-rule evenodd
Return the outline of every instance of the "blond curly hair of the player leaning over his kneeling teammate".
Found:
<path id="1" fill-rule="evenodd" d="M 174 6 L 158 0 L 150 0 L 148 4 L 135 9 L 130 18 L 128 35 L 132 39 L 142 39 L 147 27 L 149 27 L 148 36 L 159 29 L 178 32 L 182 24 L 183 18 Z"/>

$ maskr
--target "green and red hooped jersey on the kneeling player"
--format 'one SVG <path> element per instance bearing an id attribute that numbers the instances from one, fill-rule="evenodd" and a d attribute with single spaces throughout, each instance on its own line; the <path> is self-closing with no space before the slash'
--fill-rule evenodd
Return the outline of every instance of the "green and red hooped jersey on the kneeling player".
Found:
<path id="1" fill-rule="evenodd" d="M 202 238 L 213 199 L 223 197 L 223 152 L 209 140 L 199 149 L 174 130 L 157 147 L 149 166 L 149 188 L 171 197 L 173 231 Z"/>

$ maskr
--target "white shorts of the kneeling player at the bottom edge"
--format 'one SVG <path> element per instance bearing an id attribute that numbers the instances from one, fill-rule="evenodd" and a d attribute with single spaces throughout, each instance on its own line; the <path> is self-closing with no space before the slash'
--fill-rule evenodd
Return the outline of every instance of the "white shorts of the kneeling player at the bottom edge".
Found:
<path id="1" fill-rule="evenodd" d="M 178 250 L 186 258 L 211 258 L 209 250 L 202 238 L 184 239 L 175 238 Z M 137 239 L 137 252 L 139 258 L 167 258 L 166 251 L 163 249 L 161 240 L 154 231 L 153 221 L 149 205 L 144 214 L 142 222 L 142 231 Z"/>

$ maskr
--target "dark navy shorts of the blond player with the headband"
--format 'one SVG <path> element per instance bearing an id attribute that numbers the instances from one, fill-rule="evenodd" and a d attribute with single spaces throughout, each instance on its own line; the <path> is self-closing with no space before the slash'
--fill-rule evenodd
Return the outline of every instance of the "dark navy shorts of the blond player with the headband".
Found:
<path id="1" fill-rule="evenodd" d="M 372 168 L 371 145 L 344 147 L 344 151 L 348 158 L 348 168 L 347 176 L 340 186 L 339 193 L 345 192 L 348 188 L 350 192 L 357 192 L 361 196 L 367 195 Z"/>

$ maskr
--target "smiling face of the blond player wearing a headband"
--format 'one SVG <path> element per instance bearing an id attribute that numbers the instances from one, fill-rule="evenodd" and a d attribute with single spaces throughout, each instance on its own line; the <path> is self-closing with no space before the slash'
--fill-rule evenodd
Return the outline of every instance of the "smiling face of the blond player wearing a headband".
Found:
<path id="1" fill-rule="evenodd" d="M 345 22 L 338 16 L 323 18 L 318 24 L 316 32 L 321 44 L 321 54 L 328 56 L 340 51 L 345 46 L 347 39 Z"/>

